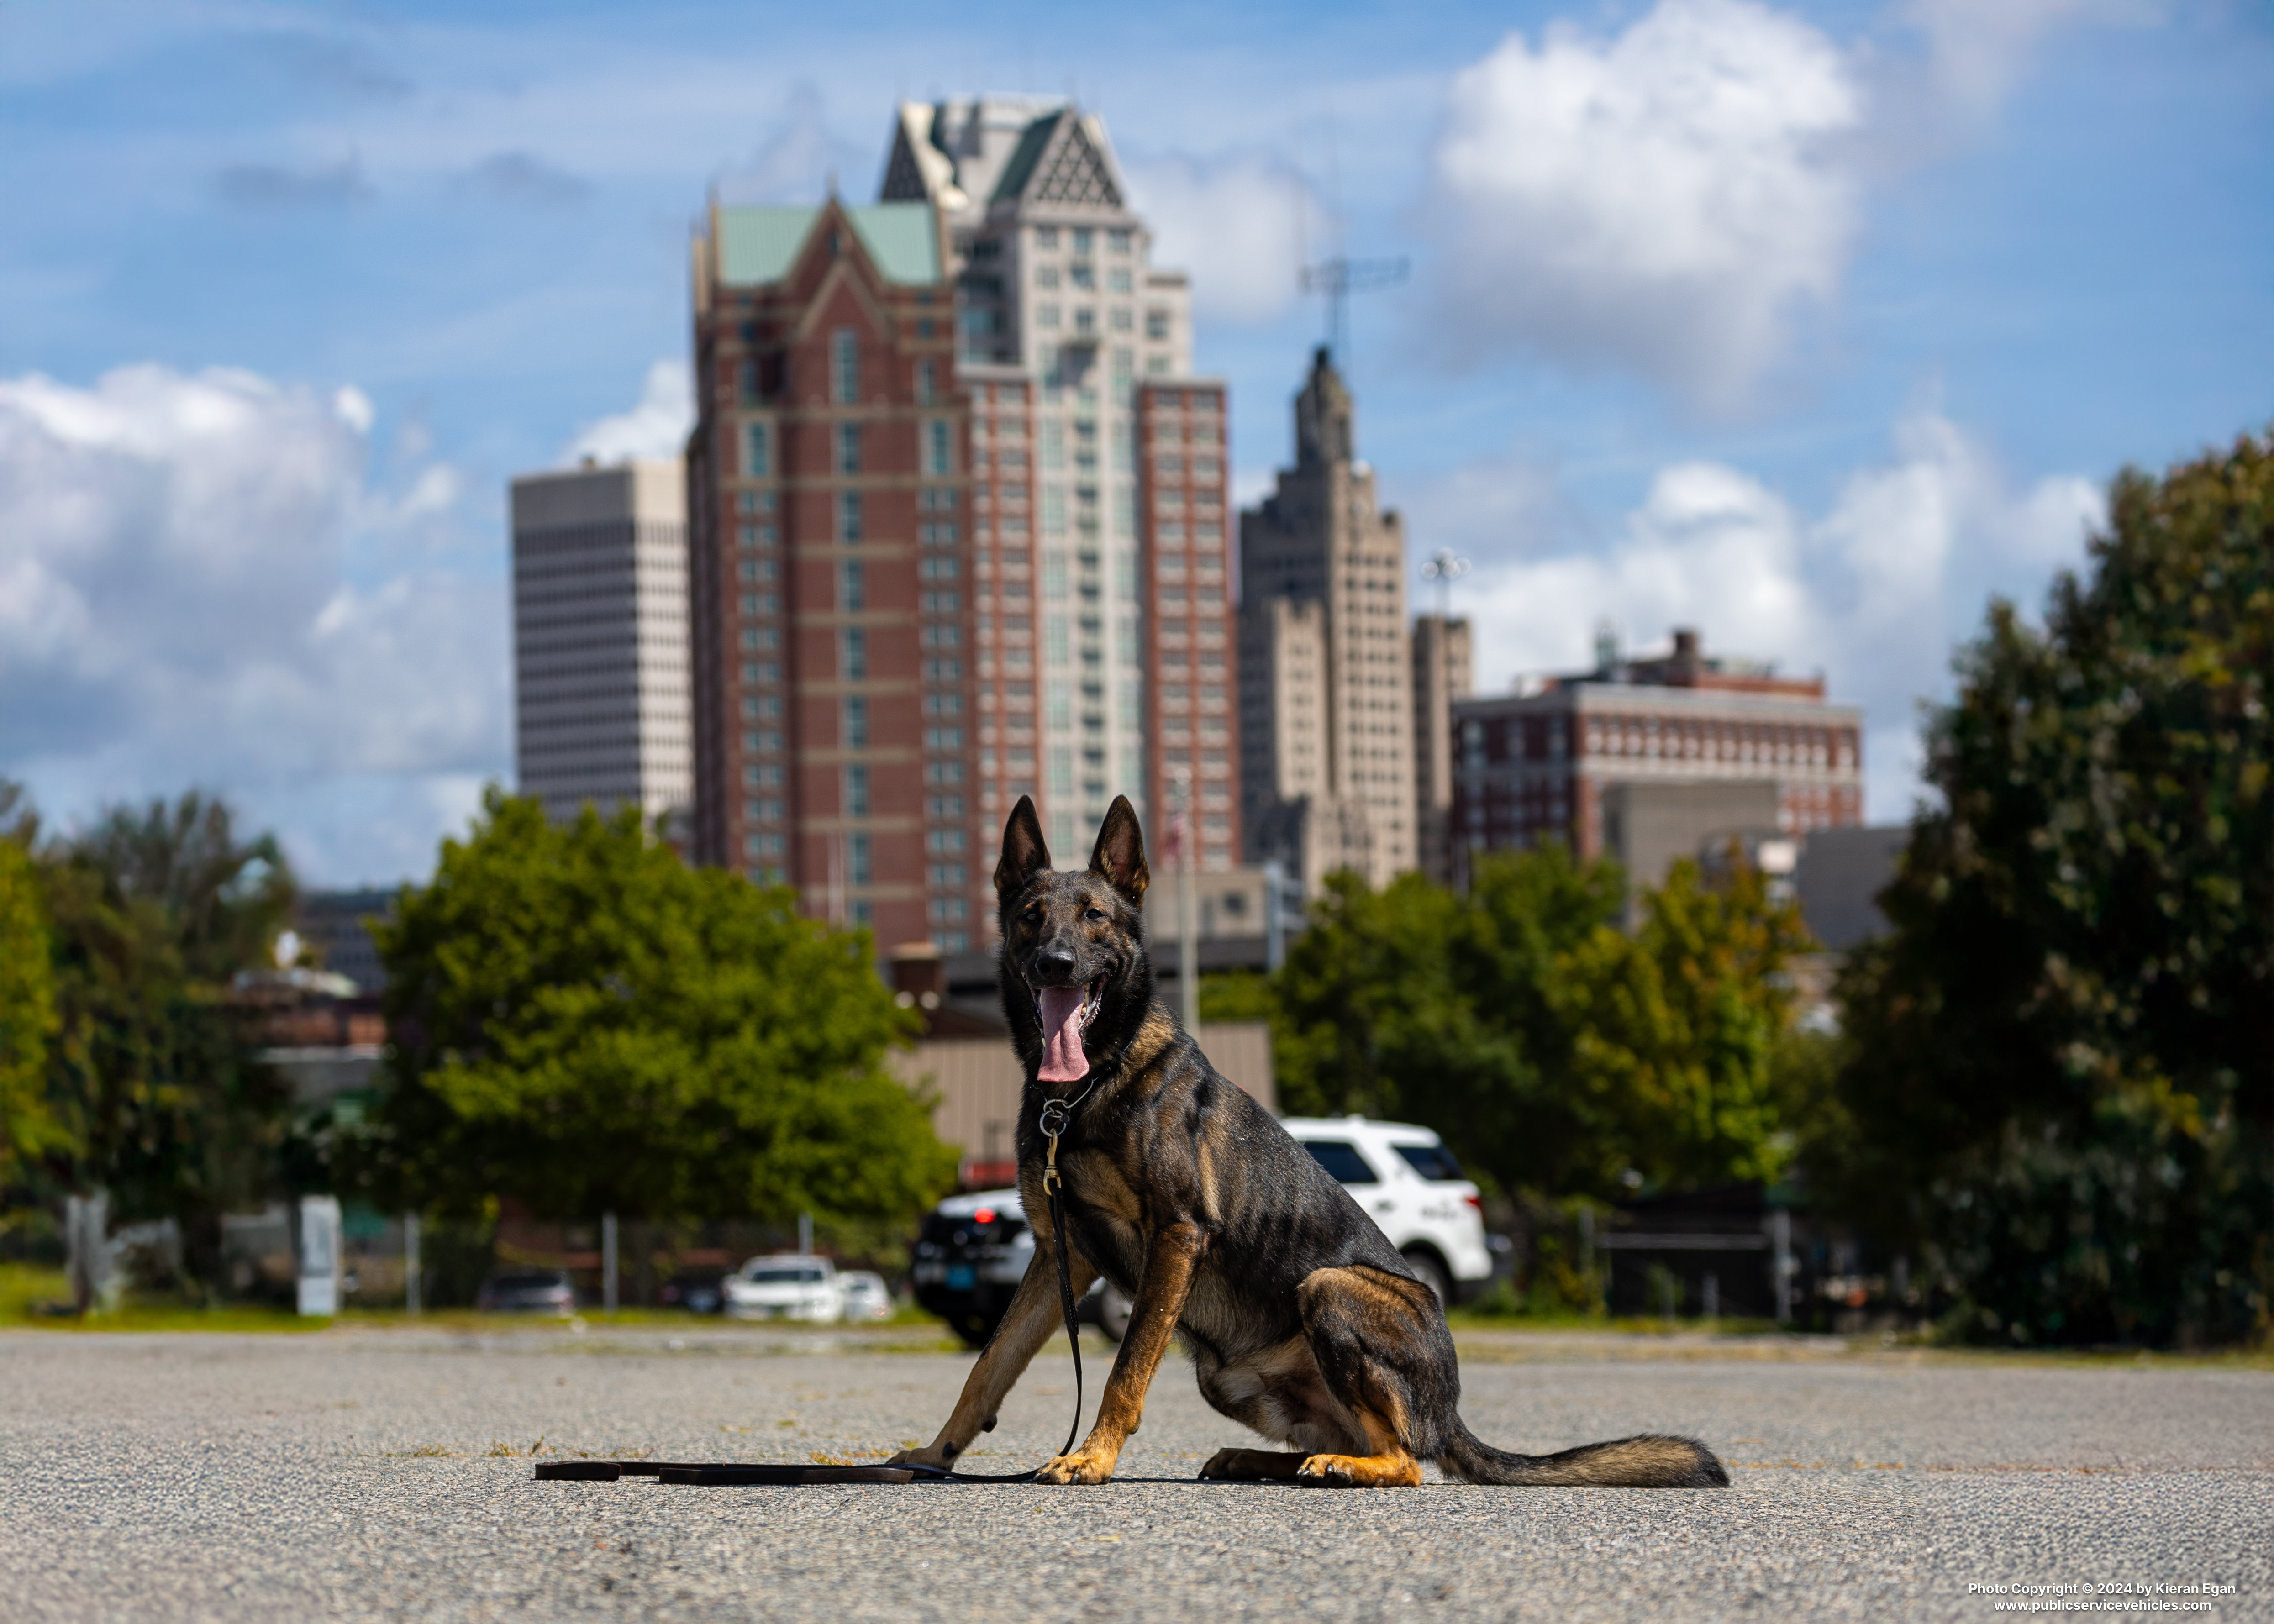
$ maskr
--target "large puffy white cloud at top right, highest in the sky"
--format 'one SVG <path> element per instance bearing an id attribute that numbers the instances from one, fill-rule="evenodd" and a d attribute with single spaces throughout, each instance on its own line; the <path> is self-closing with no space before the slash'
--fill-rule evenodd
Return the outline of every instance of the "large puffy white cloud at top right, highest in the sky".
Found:
<path id="1" fill-rule="evenodd" d="M 1737 403 L 1856 234 L 1840 48 L 1753 0 L 1660 0 L 1624 34 L 1510 34 L 1460 73 L 1435 150 L 1437 343 L 1612 362 Z"/>

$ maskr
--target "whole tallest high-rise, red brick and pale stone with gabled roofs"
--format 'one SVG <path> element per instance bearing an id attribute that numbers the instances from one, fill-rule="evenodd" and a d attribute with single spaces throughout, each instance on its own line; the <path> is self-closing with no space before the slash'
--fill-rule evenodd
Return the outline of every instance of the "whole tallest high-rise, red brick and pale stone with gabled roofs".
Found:
<path id="1" fill-rule="evenodd" d="M 885 200 L 696 241 L 696 855 L 973 953 L 1021 794 L 1230 794 L 1223 384 L 1096 118 L 903 107 Z M 1157 837 L 1155 837 L 1157 839 Z"/>

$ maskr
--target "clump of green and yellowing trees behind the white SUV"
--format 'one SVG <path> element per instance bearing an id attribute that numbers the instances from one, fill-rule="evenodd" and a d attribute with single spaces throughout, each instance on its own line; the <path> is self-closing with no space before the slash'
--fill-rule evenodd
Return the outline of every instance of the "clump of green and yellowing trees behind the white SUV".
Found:
<path id="1" fill-rule="evenodd" d="M 1619 928 L 1617 864 L 1562 846 L 1478 862 L 1469 892 L 1330 876 L 1271 987 L 1280 1103 L 1437 1128 L 1503 1190 L 1774 1176 L 1790 905 L 1678 864 Z"/>

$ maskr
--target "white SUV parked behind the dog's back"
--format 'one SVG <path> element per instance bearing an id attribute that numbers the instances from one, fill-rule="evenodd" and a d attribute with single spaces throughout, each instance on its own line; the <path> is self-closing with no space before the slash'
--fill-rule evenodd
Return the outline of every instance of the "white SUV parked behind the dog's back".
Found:
<path id="1" fill-rule="evenodd" d="M 1464 1303 L 1492 1281 L 1476 1185 L 1428 1128 L 1364 1117 L 1285 1117 L 1280 1126 L 1330 1171 L 1439 1303 Z"/>

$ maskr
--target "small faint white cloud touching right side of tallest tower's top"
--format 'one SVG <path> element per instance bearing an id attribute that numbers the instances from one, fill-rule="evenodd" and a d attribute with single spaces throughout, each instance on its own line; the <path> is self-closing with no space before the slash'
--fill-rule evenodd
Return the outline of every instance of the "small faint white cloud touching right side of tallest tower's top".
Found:
<path id="1" fill-rule="evenodd" d="M 1269 321 L 1301 291 L 1303 180 L 1262 157 L 1123 161 L 1153 264 L 1192 273 L 1201 316 Z"/>

